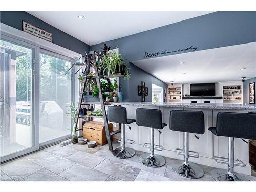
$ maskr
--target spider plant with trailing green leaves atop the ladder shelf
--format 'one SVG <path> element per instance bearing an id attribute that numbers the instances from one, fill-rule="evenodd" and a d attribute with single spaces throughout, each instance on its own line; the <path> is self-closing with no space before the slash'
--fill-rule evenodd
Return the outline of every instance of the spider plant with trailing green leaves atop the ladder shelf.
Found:
<path id="1" fill-rule="evenodd" d="M 104 77 L 116 77 L 119 74 L 124 78 L 129 79 L 129 69 L 123 62 L 122 55 L 117 52 L 107 52 L 98 63 L 100 68 L 100 75 Z"/>

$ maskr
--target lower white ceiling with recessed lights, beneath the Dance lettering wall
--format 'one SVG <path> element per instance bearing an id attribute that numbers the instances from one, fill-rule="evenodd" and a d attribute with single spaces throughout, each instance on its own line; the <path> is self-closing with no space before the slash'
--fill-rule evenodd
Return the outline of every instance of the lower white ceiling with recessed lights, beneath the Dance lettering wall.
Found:
<path id="1" fill-rule="evenodd" d="M 225 82 L 256 77 L 255 53 L 256 42 L 252 42 L 133 63 L 166 83 Z M 185 63 L 180 64 L 182 61 Z"/>

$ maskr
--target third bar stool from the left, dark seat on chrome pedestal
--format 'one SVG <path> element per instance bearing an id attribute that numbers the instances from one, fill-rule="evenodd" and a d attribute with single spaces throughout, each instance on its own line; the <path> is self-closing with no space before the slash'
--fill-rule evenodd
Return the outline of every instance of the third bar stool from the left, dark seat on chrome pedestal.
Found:
<path id="1" fill-rule="evenodd" d="M 189 133 L 204 134 L 204 113 L 202 111 L 173 110 L 170 111 L 170 129 L 183 132 L 183 149 L 176 148 L 175 153 L 184 155 L 184 161 L 177 160 L 172 164 L 173 170 L 187 178 L 196 179 L 204 175 L 204 170 L 188 161 L 189 157 L 198 158 L 199 153 L 189 151 Z M 198 136 L 195 135 L 197 139 Z"/>

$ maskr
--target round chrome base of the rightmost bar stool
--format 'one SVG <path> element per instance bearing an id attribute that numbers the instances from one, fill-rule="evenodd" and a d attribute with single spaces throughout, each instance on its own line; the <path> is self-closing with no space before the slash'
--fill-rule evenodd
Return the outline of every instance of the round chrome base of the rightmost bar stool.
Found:
<path id="1" fill-rule="evenodd" d="M 210 175 L 215 181 L 250 181 L 243 174 L 235 173 L 230 175 L 227 170 L 220 168 L 212 169 Z"/>

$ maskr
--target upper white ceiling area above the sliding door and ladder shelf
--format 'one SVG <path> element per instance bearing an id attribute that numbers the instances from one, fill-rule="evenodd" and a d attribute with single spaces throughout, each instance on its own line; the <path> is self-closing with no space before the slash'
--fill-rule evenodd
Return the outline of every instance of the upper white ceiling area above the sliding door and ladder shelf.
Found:
<path id="1" fill-rule="evenodd" d="M 210 11 L 27 11 L 88 45 L 147 31 Z M 85 19 L 78 19 L 83 15 Z M 40 27 L 40 26 L 38 26 Z M 54 36 L 53 36 L 54 38 Z"/>

